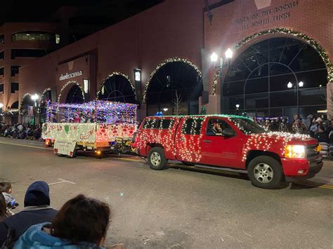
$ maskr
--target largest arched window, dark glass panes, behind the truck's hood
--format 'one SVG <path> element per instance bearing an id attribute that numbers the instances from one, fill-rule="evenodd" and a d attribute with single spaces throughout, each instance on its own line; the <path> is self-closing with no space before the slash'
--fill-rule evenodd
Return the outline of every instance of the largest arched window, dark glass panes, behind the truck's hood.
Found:
<path id="1" fill-rule="evenodd" d="M 315 48 L 294 37 L 259 41 L 230 66 L 221 109 L 248 116 L 302 118 L 326 109 L 327 68 Z"/>

